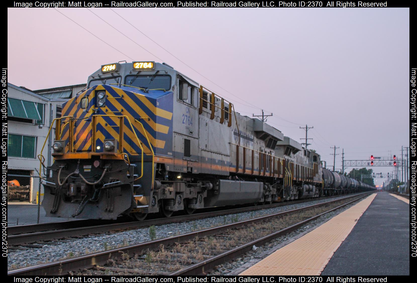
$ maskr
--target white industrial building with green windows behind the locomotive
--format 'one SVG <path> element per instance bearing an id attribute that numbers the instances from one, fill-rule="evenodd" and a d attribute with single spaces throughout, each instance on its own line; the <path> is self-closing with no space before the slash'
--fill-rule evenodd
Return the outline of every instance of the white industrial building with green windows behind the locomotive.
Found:
<path id="1" fill-rule="evenodd" d="M 8 83 L 8 172 L 16 185 L 13 198 L 18 201 L 36 202 L 39 189 L 38 178 L 17 177 L 16 175 L 38 176 L 40 162 L 38 155 L 43 144 L 45 165 L 53 162 L 51 143 L 55 136 L 55 125 L 48 135 L 54 118 L 61 116 L 61 105 L 85 88 L 85 84 L 70 85 L 43 90 L 29 90 Z M 18 182 L 16 182 L 16 180 Z M 27 191 L 27 192 L 26 192 Z M 13 190 L 10 190 L 13 193 Z M 10 198 L 10 197 L 9 197 Z"/>

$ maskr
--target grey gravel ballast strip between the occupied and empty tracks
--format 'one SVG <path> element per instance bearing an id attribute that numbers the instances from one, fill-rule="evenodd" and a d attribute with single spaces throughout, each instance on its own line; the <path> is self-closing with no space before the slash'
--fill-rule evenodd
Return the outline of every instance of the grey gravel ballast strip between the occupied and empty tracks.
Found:
<path id="1" fill-rule="evenodd" d="M 351 196 L 354 196 L 352 194 Z M 95 253 L 103 250 L 109 250 L 112 248 L 118 248 L 126 245 L 138 244 L 149 240 L 155 240 L 159 238 L 166 238 L 173 235 L 179 235 L 183 233 L 189 233 L 196 230 L 210 228 L 214 226 L 225 225 L 242 220 L 256 218 L 268 214 L 279 213 L 286 210 L 292 210 L 296 208 L 305 207 L 308 205 L 314 205 L 317 203 L 324 203 L 329 200 L 337 200 L 339 198 L 345 198 L 346 195 L 340 197 L 311 200 L 306 203 L 297 203 L 276 208 L 268 208 L 263 210 L 229 214 L 223 216 L 216 216 L 211 218 L 204 218 L 198 220 L 191 220 L 183 223 L 170 223 L 155 226 L 154 228 L 140 228 L 136 230 L 128 230 L 113 234 L 102 234 L 97 236 L 86 236 L 80 239 L 65 241 L 51 242 L 53 245 L 45 244 L 42 248 L 29 248 L 27 250 L 10 250 L 8 255 L 8 270 L 15 270 L 18 268 L 38 265 L 41 263 L 48 263 L 57 260 L 63 260 L 66 258 L 72 258 L 79 255 L 85 255 L 89 253 Z M 322 217 L 326 217 L 324 215 Z M 320 221 L 320 220 L 315 220 Z M 322 220 L 321 220 L 322 221 Z M 315 225 L 315 224 L 309 224 Z M 152 229 L 152 231 L 151 231 Z M 303 229 L 303 228 L 300 228 Z M 300 230 L 299 229 L 299 230 Z M 297 230 L 298 231 L 298 230 Z M 301 232 L 293 233 L 301 233 Z M 291 233 L 291 235 L 293 234 Z M 152 239 L 151 239 L 152 235 Z M 291 238 L 291 235 L 286 237 Z M 250 258 L 249 258 L 250 259 Z M 241 263 L 243 262 L 243 263 Z M 239 265 L 244 264 L 245 260 L 239 261 Z M 222 267 L 223 268 L 223 267 Z M 233 268 L 224 267 L 224 271 L 229 273 Z M 222 273 L 223 274 L 223 273 Z"/>

